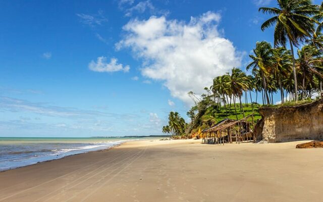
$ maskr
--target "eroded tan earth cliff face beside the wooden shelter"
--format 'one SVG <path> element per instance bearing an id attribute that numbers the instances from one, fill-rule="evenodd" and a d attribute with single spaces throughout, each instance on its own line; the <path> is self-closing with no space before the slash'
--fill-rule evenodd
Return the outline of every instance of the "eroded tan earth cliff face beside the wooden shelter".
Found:
<path id="1" fill-rule="evenodd" d="M 295 107 L 264 107 L 259 113 L 263 126 L 261 130 L 257 124 L 255 131 L 258 137 L 261 131 L 263 142 L 323 138 L 323 99 Z"/>

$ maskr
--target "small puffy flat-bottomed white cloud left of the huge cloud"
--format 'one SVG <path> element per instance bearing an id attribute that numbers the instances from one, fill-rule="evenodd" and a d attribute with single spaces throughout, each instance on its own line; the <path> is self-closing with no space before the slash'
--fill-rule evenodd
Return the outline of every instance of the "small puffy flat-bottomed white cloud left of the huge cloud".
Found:
<path id="1" fill-rule="evenodd" d="M 110 63 L 107 63 L 104 56 L 98 57 L 96 62 L 93 60 L 89 63 L 89 69 L 94 72 L 129 72 L 129 65 L 123 66 L 118 64 L 118 59 L 112 58 Z"/>

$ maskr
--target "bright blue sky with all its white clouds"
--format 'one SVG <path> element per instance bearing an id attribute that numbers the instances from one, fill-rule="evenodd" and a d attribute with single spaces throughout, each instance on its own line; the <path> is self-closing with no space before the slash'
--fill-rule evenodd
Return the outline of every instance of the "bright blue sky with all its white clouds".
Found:
<path id="1" fill-rule="evenodd" d="M 0 136 L 157 135 L 170 111 L 189 121 L 187 92 L 273 42 L 261 6 L 275 1 L 0 1 Z"/>

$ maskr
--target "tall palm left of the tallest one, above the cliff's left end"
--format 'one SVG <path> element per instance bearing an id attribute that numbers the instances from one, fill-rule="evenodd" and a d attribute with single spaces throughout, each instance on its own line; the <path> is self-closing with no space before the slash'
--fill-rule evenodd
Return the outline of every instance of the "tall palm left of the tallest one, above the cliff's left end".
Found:
<path id="1" fill-rule="evenodd" d="M 256 48 L 253 49 L 254 55 L 249 55 L 253 60 L 248 66 L 247 70 L 250 68 L 259 68 L 259 73 L 262 79 L 262 87 L 266 96 L 267 104 L 270 104 L 270 99 L 267 92 L 267 84 L 265 76 L 268 74 L 268 70 L 272 67 L 273 60 L 273 49 L 272 45 L 266 41 L 260 41 L 256 43 Z M 252 70 L 253 71 L 253 70 Z"/>

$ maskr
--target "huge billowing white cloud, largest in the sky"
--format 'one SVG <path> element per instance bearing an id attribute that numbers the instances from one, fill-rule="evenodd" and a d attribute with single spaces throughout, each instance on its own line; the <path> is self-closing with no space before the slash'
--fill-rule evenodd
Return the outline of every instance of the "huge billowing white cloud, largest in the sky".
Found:
<path id="1" fill-rule="evenodd" d="M 129 47 L 143 60 L 143 76 L 164 81 L 172 96 L 192 104 L 187 92 L 202 94 L 214 77 L 241 65 L 241 54 L 219 33 L 221 16 L 207 12 L 190 22 L 152 16 L 131 20 L 117 49 Z"/>

